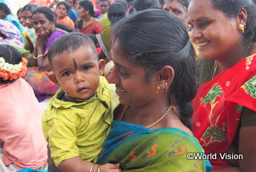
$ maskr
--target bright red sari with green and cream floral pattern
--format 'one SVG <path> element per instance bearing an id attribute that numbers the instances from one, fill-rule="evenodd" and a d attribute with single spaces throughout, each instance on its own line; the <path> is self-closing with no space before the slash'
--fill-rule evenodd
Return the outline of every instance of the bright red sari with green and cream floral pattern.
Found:
<path id="1" fill-rule="evenodd" d="M 243 106 L 256 111 L 255 63 L 254 54 L 199 87 L 193 102 L 192 126 L 206 154 L 229 149 Z M 214 170 L 230 166 L 220 157 L 210 162 Z"/>

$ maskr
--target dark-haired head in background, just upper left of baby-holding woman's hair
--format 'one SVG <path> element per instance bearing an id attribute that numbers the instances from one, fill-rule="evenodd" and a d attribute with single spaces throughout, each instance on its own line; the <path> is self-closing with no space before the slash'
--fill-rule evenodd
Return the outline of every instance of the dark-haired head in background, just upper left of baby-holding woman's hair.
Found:
<path id="1" fill-rule="evenodd" d="M 110 5 L 109 10 L 107 11 L 107 17 L 110 19 L 111 24 L 114 25 L 115 22 L 126 17 L 126 9 L 122 4 L 114 2 Z"/>

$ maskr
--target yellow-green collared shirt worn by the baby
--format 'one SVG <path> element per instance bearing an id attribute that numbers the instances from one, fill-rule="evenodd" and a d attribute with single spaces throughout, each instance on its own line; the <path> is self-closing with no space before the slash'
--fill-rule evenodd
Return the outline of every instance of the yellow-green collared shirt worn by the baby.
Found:
<path id="1" fill-rule="evenodd" d="M 76 156 L 96 161 L 113 121 L 110 94 L 115 94 L 114 85 L 101 77 L 97 96 L 80 103 L 59 100 L 61 92 L 58 90 L 42 115 L 42 130 L 55 165 Z"/>

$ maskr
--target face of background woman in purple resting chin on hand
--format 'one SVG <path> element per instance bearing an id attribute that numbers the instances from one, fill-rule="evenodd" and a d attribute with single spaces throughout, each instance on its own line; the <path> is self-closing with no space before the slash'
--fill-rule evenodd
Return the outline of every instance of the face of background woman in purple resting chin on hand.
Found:
<path id="1" fill-rule="evenodd" d="M 39 37 L 46 34 L 51 34 L 55 24 L 54 21 L 50 22 L 50 20 L 42 13 L 34 14 L 33 21 L 35 32 Z"/>

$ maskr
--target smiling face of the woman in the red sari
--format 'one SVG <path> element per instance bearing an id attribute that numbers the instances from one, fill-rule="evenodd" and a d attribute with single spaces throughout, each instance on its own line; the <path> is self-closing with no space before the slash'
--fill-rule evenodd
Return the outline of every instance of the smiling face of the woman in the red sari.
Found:
<path id="1" fill-rule="evenodd" d="M 190 36 L 198 45 L 200 58 L 221 62 L 236 55 L 242 32 L 237 18 L 227 17 L 211 1 L 194 0 L 188 9 Z M 240 41 L 239 41 L 240 40 Z"/>

